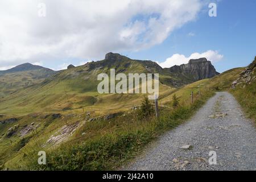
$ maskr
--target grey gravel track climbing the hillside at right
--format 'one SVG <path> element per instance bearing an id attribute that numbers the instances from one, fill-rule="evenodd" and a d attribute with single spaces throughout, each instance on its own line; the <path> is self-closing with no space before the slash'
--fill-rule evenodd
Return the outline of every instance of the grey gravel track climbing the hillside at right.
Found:
<path id="1" fill-rule="evenodd" d="M 232 94 L 217 92 L 127 170 L 256 170 L 256 133 Z"/>

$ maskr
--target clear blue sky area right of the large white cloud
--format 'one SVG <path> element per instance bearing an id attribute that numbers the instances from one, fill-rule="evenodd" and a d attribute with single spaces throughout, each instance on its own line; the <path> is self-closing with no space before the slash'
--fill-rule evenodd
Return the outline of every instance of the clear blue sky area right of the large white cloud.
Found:
<path id="1" fill-rule="evenodd" d="M 224 0 L 217 3 L 217 17 L 208 15 L 204 7 L 197 19 L 177 28 L 157 46 L 138 52 L 122 52 L 134 59 L 162 62 L 175 53 L 185 56 L 193 52 L 217 50 L 224 55 L 214 63 L 217 71 L 245 67 L 256 56 L 256 1 Z M 194 36 L 188 36 L 192 32 Z"/>

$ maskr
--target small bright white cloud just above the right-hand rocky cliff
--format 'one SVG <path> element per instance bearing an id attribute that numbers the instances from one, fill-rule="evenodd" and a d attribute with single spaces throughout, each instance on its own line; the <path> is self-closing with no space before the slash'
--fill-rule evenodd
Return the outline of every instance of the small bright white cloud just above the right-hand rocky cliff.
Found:
<path id="1" fill-rule="evenodd" d="M 189 57 L 186 57 L 184 55 L 180 55 L 178 53 L 172 55 L 171 57 L 168 57 L 166 61 L 163 63 L 158 63 L 162 68 L 170 68 L 174 65 L 181 65 L 181 64 L 187 64 L 190 59 L 199 59 L 201 57 L 207 58 L 207 60 L 212 61 L 212 63 L 216 61 L 220 61 L 224 56 L 220 55 L 218 51 L 206 51 L 203 53 L 192 53 Z"/>

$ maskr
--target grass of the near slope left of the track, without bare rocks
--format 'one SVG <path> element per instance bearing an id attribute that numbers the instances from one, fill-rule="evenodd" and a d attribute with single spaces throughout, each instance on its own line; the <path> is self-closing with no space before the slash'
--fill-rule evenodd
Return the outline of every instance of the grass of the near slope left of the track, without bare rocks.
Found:
<path id="1" fill-rule="evenodd" d="M 190 105 L 191 90 L 196 93 L 197 87 L 207 81 L 199 81 L 181 89 L 171 89 L 169 93 L 160 95 L 160 105 L 165 107 L 161 109 L 159 121 L 156 121 L 154 117 L 139 121 L 136 114 L 126 111 L 125 115 L 119 115 L 108 121 L 100 119 L 96 122 L 86 122 L 68 142 L 56 147 L 42 148 L 46 140 L 64 125 L 84 121 L 84 114 L 71 118 L 65 115 L 60 119 L 51 117 L 43 119 L 44 114 L 23 116 L 19 121 L 19 126 L 35 121 L 36 124 L 40 123 L 40 127 L 35 133 L 26 135 L 25 139 L 17 136 L 21 127 L 12 137 L 1 137 L 0 162 L 5 163 L 10 169 L 39 168 L 35 165 L 37 153 L 44 150 L 47 151 L 48 156 L 47 169 L 113 169 L 133 158 L 152 139 L 190 117 L 213 94 L 213 92 L 202 89 L 201 99 L 195 96 L 196 102 Z M 174 93 L 180 99 L 181 106 L 178 109 L 171 107 L 171 97 Z M 6 132 L 13 125 L 15 123 L 6 125 L 1 133 Z M 20 148 L 26 139 L 26 145 Z"/>

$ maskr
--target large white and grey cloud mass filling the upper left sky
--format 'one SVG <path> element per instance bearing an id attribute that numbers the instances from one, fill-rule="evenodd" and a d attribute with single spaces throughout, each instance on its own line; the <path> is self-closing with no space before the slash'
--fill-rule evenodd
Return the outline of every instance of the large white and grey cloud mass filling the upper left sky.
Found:
<path id="1" fill-rule="evenodd" d="M 38 4 L 46 4 L 39 18 Z M 162 43 L 194 20 L 201 0 L 0 1 L 0 67 L 27 61 L 100 59 Z"/>

